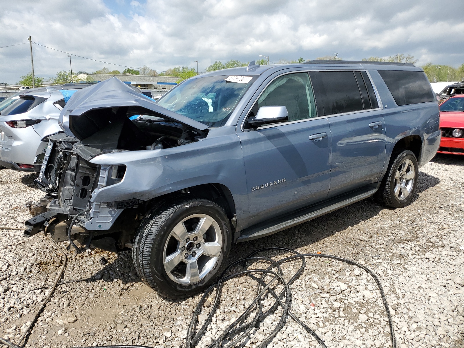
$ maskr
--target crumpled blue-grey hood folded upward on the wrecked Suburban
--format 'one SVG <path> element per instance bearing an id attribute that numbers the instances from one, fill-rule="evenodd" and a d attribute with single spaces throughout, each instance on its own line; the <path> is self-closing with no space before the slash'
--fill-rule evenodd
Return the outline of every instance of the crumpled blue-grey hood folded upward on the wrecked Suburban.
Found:
<path id="1" fill-rule="evenodd" d="M 208 126 L 203 123 L 163 108 L 155 103 L 153 99 L 136 92 L 116 77 L 77 90 L 61 111 L 59 124 L 67 135 L 74 136 L 69 129 L 69 116 L 81 116 L 89 110 L 118 106 L 141 106 L 160 114 L 160 116 L 186 124 L 194 129 L 208 129 Z"/>

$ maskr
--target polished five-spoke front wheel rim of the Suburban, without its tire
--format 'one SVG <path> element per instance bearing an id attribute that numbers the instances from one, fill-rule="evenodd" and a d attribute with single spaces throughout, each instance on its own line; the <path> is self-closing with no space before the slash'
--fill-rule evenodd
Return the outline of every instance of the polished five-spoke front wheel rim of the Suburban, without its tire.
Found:
<path id="1" fill-rule="evenodd" d="M 163 252 L 164 270 L 177 284 L 195 284 L 213 270 L 221 251 L 222 234 L 216 220 L 193 214 L 169 234 Z"/>

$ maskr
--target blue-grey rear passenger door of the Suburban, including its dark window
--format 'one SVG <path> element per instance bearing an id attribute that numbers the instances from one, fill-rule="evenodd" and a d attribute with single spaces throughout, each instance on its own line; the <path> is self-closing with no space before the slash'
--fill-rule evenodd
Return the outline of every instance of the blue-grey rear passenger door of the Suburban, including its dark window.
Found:
<path id="1" fill-rule="evenodd" d="M 310 76 L 318 110 L 330 124 L 328 197 L 379 181 L 386 153 L 385 122 L 367 72 L 315 71 Z"/>

